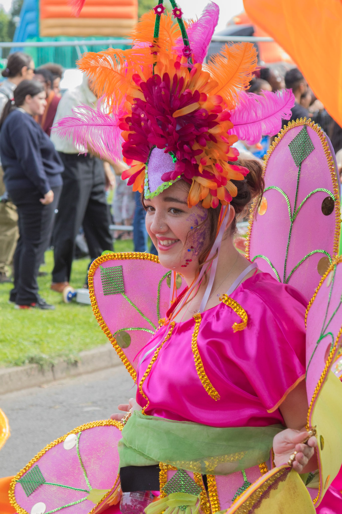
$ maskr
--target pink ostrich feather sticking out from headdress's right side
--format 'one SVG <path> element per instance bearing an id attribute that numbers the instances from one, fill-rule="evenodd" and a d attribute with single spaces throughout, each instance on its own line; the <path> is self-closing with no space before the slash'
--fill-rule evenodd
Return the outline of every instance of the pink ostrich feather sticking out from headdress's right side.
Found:
<path id="1" fill-rule="evenodd" d="M 262 95 L 241 91 L 239 104 L 230 112 L 234 127 L 228 133 L 255 144 L 261 136 L 277 134 L 281 129 L 281 120 L 290 119 L 293 106 L 292 89 L 281 89 L 276 93 L 263 91 Z"/>

